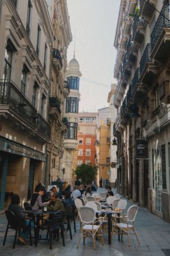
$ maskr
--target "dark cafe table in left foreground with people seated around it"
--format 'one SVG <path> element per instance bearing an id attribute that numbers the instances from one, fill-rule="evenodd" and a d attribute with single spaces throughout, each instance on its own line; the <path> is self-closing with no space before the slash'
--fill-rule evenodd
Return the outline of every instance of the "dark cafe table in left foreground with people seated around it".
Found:
<path id="1" fill-rule="evenodd" d="M 40 240 L 39 238 L 39 233 L 40 233 L 40 218 L 43 217 L 43 215 L 46 214 L 55 214 L 56 212 L 51 212 L 51 211 L 46 211 L 44 212 L 43 210 L 22 210 L 22 212 L 24 214 L 29 214 L 30 216 L 33 216 L 33 218 L 36 217 L 36 232 L 35 232 L 35 245 L 37 247 L 38 245 L 38 240 Z M 41 238 L 41 240 L 43 240 Z"/>

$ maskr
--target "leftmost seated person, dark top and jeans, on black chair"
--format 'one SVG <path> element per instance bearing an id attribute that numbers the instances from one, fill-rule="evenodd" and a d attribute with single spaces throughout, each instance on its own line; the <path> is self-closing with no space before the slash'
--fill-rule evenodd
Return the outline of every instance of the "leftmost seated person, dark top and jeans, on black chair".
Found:
<path id="1" fill-rule="evenodd" d="M 29 236 L 30 220 L 26 218 L 26 215 L 22 214 L 22 207 L 19 206 L 19 203 L 19 195 L 13 194 L 11 196 L 11 204 L 7 210 L 13 212 L 19 218 L 20 222 L 23 223 L 24 228 L 22 228 L 21 234 L 17 237 L 17 241 L 22 245 L 26 245 L 26 239 Z M 32 224 L 32 226 L 34 225 Z"/>

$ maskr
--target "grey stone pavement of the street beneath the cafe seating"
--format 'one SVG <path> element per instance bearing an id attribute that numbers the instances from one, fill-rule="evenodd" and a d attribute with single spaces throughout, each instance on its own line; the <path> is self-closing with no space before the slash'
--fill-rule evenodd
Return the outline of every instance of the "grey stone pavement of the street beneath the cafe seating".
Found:
<path id="1" fill-rule="evenodd" d="M 105 189 L 98 189 L 99 192 L 104 192 Z M 97 192 L 98 192 L 97 191 Z M 128 206 L 133 203 L 128 201 Z M 103 232 L 104 246 L 99 241 L 96 241 L 96 250 L 93 249 L 93 242 L 91 238 L 87 238 L 85 245 L 83 240 L 77 249 L 77 242 L 80 234 L 80 223 L 77 220 L 77 232 L 73 231 L 73 240 L 70 239 L 69 231 L 65 231 L 65 247 L 62 246 L 62 239 L 58 242 L 52 242 L 52 250 L 49 249 L 48 241 L 40 241 L 38 247 L 31 247 L 29 245 L 16 244 L 15 249 L 12 249 L 13 231 L 10 231 L 7 236 L 5 246 L 3 246 L 3 236 L 5 234 L 7 222 L 5 215 L 0 216 L 0 255 L 1 256 L 59 256 L 59 255 L 97 255 L 97 256 L 111 256 L 111 255 L 129 255 L 129 256 L 165 256 L 170 255 L 170 224 L 163 221 L 161 218 L 151 214 L 143 207 L 139 207 L 136 216 L 136 232 L 140 241 L 140 245 L 136 243 L 135 236 L 130 236 L 131 246 L 128 247 L 128 241 L 124 236 L 123 243 L 118 241 L 118 236 L 112 239 L 112 245 L 108 245 L 108 234 Z M 42 236 L 45 236 L 42 231 Z"/>

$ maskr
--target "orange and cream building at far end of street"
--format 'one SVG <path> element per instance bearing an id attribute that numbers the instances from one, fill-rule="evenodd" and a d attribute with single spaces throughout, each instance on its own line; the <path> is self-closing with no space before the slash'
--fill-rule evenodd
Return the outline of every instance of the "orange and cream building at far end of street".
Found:
<path id="1" fill-rule="evenodd" d="M 96 117 L 97 113 L 79 113 L 77 165 L 95 165 Z"/>

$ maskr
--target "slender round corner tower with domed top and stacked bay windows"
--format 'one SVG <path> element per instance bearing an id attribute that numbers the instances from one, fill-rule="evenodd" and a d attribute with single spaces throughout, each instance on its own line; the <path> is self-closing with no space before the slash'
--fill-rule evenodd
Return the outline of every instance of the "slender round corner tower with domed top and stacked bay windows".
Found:
<path id="1" fill-rule="evenodd" d="M 64 148 L 65 152 L 62 158 L 63 179 L 66 183 L 73 184 L 73 170 L 77 166 L 77 129 L 78 129 L 78 113 L 79 113 L 79 79 L 81 71 L 79 63 L 75 59 L 71 59 L 67 69 L 67 83 L 69 84 L 69 96 L 65 100 L 65 115 L 69 121 L 69 129 L 65 134 Z"/>

